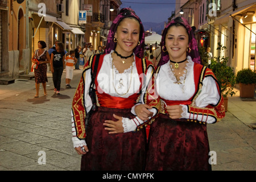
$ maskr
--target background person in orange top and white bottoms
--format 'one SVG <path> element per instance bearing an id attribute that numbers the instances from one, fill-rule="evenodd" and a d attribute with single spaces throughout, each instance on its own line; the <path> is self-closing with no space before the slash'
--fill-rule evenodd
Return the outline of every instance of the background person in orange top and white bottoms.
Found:
<path id="1" fill-rule="evenodd" d="M 65 58 L 66 69 L 66 88 L 71 88 L 70 82 L 73 78 L 74 64 L 76 65 L 77 59 L 75 57 L 75 51 L 70 51 L 69 55 Z"/>

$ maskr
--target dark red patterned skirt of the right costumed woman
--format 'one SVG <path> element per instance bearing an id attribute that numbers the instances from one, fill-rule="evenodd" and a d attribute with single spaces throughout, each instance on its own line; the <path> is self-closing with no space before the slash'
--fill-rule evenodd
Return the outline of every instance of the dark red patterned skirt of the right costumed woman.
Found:
<path id="1" fill-rule="evenodd" d="M 211 170 L 207 126 L 159 114 L 150 126 L 146 170 Z"/>

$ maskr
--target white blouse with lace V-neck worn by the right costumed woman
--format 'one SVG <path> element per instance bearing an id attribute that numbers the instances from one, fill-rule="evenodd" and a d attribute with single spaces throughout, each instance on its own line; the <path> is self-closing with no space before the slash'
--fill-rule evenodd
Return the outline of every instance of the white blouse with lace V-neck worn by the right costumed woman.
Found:
<path id="1" fill-rule="evenodd" d="M 156 93 L 158 96 L 163 98 L 164 100 L 169 101 L 187 101 L 189 98 L 195 94 L 195 81 L 194 81 L 194 62 L 191 57 L 187 57 L 188 63 L 186 64 L 185 71 L 183 75 L 180 77 L 180 82 L 182 84 L 175 84 L 176 77 L 174 76 L 173 69 L 168 61 L 166 64 L 162 65 L 158 75 L 155 78 L 155 87 Z M 187 72 L 187 73 L 186 73 Z M 195 100 L 196 107 L 206 107 L 209 104 L 216 105 L 220 100 L 220 94 L 217 89 L 216 81 L 213 77 L 205 77 L 203 80 L 203 86 L 199 96 Z M 163 101 L 164 102 L 164 101 Z M 142 101 L 142 104 L 143 101 Z M 166 105 L 167 106 L 167 105 Z M 198 115 L 189 113 L 187 105 L 181 105 L 183 113 L 181 113 L 181 118 L 185 119 L 193 119 L 197 118 L 198 121 L 214 123 L 216 119 L 207 115 Z M 134 111 L 135 106 L 132 108 L 132 113 L 135 115 Z M 156 110 L 151 110 L 156 114 Z M 139 119 L 140 120 L 140 119 Z M 128 121 L 127 121 L 128 122 Z M 143 123 L 143 121 L 139 121 L 139 123 Z M 133 121 L 129 121 L 129 126 L 127 128 L 136 129 L 136 125 Z M 133 125 L 133 126 L 130 126 Z M 133 131 L 133 130 L 129 130 Z M 126 131 L 127 132 L 127 131 Z"/>

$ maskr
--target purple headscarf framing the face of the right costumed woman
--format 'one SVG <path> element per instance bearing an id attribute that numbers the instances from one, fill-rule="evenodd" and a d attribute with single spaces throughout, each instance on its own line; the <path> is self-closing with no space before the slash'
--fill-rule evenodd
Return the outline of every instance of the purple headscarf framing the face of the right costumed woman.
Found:
<path id="1" fill-rule="evenodd" d="M 162 35 L 162 46 L 166 46 L 166 34 L 168 31 L 168 28 L 177 23 L 183 25 L 186 28 L 188 35 L 189 35 L 189 43 L 188 44 L 189 44 L 189 48 L 191 49 L 191 52 L 187 52 L 187 56 L 191 56 L 192 60 L 195 63 L 201 64 L 201 59 L 200 59 L 194 32 L 193 32 L 191 26 L 189 26 L 187 20 L 183 17 L 177 17 L 177 18 L 171 20 L 171 22 L 168 23 L 167 26 L 164 28 L 163 35 Z M 166 64 L 169 61 L 169 59 L 170 58 L 169 58 L 168 52 L 167 51 L 163 52 L 163 49 L 162 49 L 161 59 L 159 61 L 158 66 Z"/>

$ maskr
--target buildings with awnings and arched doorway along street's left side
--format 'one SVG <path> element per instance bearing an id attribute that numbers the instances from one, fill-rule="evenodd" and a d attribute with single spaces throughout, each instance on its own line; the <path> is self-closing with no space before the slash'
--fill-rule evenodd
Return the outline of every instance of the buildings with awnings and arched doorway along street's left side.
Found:
<path id="1" fill-rule="evenodd" d="M 105 46 L 121 4 L 119 0 L 0 1 L 0 78 L 28 75 L 39 40 L 46 42 L 47 50 L 60 40 L 67 52 L 86 44 L 94 49 Z M 81 21 L 81 11 L 86 11 L 86 22 Z"/>

